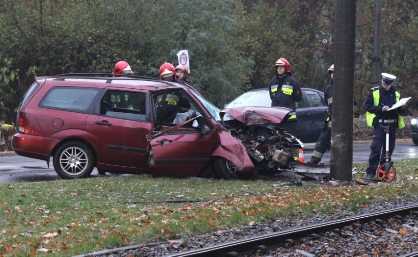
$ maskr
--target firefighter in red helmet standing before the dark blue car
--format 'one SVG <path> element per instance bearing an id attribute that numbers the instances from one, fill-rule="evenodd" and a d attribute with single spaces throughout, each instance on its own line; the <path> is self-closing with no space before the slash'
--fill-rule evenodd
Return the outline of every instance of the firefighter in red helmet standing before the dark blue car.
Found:
<path id="1" fill-rule="evenodd" d="M 296 102 L 302 101 L 302 91 L 299 82 L 290 72 L 290 63 L 285 58 L 280 58 L 274 64 L 276 76 L 270 80 L 268 91 L 270 93 L 271 106 L 281 106 L 292 109 L 290 117 L 281 124 L 290 134 L 296 132 Z"/>

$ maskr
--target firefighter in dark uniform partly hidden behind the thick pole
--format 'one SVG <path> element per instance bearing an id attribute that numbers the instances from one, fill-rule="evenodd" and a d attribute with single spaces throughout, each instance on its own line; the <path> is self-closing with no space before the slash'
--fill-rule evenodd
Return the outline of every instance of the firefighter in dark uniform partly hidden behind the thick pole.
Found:
<path id="1" fill-rule="evenodd" d="M 325 87 L 324 90 L 324 97 L 328 109 L 324 116 L 324 125 L 321 131 L 321 135 L 319 136 L 318 141 L 316 141 L 311 160 L 309 161 L 312 164 L 318 164 L 321 161 L 322 156 L 324 155 L 325 151 L 327 150 L 327 146 L 331 141 L 332 86 L 334 81 L 334 64 L 331 65 L 328 69 L 328 74 L 331 78 L 331 82 Z"/>

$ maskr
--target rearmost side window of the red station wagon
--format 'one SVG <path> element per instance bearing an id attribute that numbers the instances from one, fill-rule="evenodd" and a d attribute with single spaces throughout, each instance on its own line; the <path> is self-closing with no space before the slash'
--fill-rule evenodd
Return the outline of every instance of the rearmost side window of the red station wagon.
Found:
<path id="1" fill-rule="evenodd" d="M 39 107 L 87 112 L 99 89 L 87 87 L 53 87 L 42 99 Z"/>

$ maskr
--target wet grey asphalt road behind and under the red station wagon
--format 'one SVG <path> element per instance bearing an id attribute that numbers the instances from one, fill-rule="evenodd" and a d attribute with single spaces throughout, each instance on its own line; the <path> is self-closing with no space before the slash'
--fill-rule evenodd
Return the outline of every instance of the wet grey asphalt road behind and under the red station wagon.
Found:
<path id="1" fill-rule="evenodd" d="M 313 153 L 314 143 L 305 144 L 303 149 L 305 162 L 309 161 Z M 370 142 L 363 142 L 353 145 L 353 161 L 367 162 L 370 154 Z M 393 160 L 404 158 L 418 158 L 418 146 L 412 142 L 396 143 L 395 151 L 392 154 Z M 325 152 L 322 158 L 323 163 L 330 161 L 330 151 Z M 99 175 L 97 169 L 94 169 L 92 177 L 103 176 L 130 176 L 130 175 L 116 175 L 106 173 Z M 61 180 L 52 167 L 48 167 L 46 161 L 16 156 L 13 153 L 0 153 L 0 183 L 13 182 L 34 182 L 34 181 L 49 181 Z"/>

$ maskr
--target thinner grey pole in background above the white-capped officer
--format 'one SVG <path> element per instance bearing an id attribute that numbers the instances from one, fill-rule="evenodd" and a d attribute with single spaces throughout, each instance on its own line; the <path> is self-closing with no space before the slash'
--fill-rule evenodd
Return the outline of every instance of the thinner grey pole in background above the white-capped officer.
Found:
<path id="1" fill-rule="evenodd" d="M 382 34 L 381 29 L 381 16 L 382 16 L 382 0 L 376 0 L 376 10 L 374 14 L 374 43 L 373 43 L 373 70 L 371 83 L 380 83 L 380 37 Z"/>

